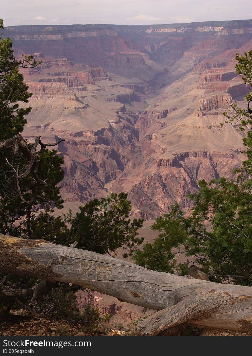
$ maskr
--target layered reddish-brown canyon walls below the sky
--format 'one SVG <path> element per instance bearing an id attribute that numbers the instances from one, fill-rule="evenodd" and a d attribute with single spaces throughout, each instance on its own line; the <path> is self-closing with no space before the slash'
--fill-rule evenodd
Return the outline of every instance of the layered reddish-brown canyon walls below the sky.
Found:
<path id="1" fill-rule="evenodd" d="M 66 207 L 125 191 L 132 214 L 188 210 L 198 180 L 232 177 L 241 134 L 221 126 L 248 92 L 235 54 L 252 48 L 252 21 L 179 25 L 14 26 L 15 55 L 33 96 L 24 135 L 65 138 Z"/>

